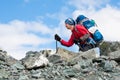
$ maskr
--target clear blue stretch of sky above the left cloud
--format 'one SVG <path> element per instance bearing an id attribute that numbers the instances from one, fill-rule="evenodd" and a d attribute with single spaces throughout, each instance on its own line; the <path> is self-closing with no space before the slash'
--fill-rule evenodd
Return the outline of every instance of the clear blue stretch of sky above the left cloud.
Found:
<path id="1" fill-rule="evenodd" d="M 1 21 L 8 22 L 10 20 L 19 19 L 23 21 L 36 20 L 39 16 L 46 16 L 46 14 L 53 14 L 63 5 L 62 0 L 60 4 L 58 1 L 51 2 L 49 0 L 2 0 Z M 56 7 L 56 8 L 55 8 Z"/>

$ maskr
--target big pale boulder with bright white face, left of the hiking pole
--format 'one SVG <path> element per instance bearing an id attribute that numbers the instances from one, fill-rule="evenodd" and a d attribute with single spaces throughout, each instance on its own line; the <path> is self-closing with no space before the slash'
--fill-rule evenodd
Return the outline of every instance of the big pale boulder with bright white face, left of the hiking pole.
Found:
<path id="1" fill-rule="evenodd" d="M 27 69 L 43 67 L 49 64 L 48 59 L 41 53 L 32 54 L 32 56 L 29 57 L 27 56 L 22 62 Z"/>

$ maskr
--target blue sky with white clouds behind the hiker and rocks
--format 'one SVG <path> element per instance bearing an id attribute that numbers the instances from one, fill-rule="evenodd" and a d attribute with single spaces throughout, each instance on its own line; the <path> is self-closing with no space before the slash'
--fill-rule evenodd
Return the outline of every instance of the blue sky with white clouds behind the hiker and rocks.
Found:
<path id="1" fill-rule="evenodd" d="M 1 0 L 0 48 L 22 59 L 28 51 L 55 50 L 54 35 L 69 40 L 66 18 L 83 14 L 94 19 L 106 41 L 120 41 L 119 0 Z M 74 52 L 78 47 L 62 46 Z"/>

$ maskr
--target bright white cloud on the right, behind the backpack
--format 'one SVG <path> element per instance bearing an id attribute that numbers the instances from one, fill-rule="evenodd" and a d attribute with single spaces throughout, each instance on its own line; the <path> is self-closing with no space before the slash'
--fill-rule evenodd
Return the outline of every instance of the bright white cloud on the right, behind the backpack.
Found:
<path id="1" fill-rule="evenodd" d="M 107 6 L 93 15 L 93 18 L 100 25 L 105 40 L 120 41 L 120 10 Z"/>

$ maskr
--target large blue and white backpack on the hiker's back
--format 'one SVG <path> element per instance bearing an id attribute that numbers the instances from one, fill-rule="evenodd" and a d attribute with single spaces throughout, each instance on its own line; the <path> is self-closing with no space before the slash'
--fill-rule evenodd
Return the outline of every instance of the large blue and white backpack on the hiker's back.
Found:
<path id="1" fill-rule="evenodd" d="M 103 41 L 103 35 L 98 30 L 97 24 L 94 20 L 90 20 L 84 15 L 79 15 L 76 19 L 77 24 L 82 24 L 93 35 L 93 39 L 96 43 Z"/>

